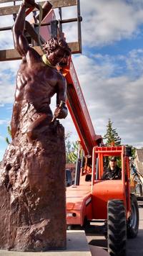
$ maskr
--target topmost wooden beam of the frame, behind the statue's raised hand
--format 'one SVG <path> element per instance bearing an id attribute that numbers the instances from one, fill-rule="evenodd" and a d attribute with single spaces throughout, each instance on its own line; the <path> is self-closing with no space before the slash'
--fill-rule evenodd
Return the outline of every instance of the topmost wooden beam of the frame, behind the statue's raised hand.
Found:
<path id="1" fill-rule="evenodd" d="M 0 3 L 2 3 L 2 1 L 9 1 L 9 0 L 0 0 Z M 39 4 L 43 5 L 45 2 L 41 1 L 39 2 Z M 67 7 L 67 6 L 75 6 L 77 5 L 77 0 L 52 0 L 50 1 L 50 3 L 52 4 L 52 8 L 56 9 L 56 8 L 60 8 L 60 7 Z M 0 16 L 2 15 L 10 15 L 10 14 L 17 14 L 19 12 L 19 5 L 15 5 L 15 6 L 5 6 L 5 7 L 1 7 L 0 8 Z M 37 11 L 38 9 L 34 9 L 34 11 Z"/>

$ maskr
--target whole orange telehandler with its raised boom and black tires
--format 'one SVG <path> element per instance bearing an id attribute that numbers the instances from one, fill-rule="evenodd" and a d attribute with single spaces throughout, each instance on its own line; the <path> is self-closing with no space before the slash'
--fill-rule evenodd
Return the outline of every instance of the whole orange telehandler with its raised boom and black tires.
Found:
<path id="1" fill-rule="evenodd" d="M 67 82 L 67 106 L 79 134 L 84 160 L 77 160 L 75 183 L 66 188 L 66 224 L 84 227 L 87 222 L 107 222 L 110 255 L 126 255 L 127 237 L 137 236 L 139 209 L 130 193 L 129 147 L 106 147 L 94 133 L 76 71 L 71 60 L 62 68 Z M 107 157 L 121 159 L 122 178 L 102 180 Z"/>

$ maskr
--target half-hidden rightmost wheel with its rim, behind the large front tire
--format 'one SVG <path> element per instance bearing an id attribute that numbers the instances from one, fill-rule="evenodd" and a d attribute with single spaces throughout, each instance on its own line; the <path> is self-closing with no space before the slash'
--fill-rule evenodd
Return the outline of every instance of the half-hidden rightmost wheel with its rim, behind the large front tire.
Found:
<path id="1" fill-rule="evenodd" d="M 131 216 L 127 220 L 127 237 L 134 238 L 137 237 L 139 231 L 139 208 L 137 204 L 137 198 L 133 194 L 131 199 Z"/>

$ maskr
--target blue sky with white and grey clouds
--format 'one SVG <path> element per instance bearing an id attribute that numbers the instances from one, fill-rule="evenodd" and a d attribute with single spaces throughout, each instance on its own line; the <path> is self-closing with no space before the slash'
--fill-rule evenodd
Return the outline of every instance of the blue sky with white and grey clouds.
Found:
<path id="1" fill-rule="evenodd" d="M 122 144 L 143 147 L 143 1 L 81 0 L 81 15 L 82 54 L 72 58 L 95 132 L 104 136 L 111 119 Z M 75 7 L 63 9 L 63 19 L 73 17 Z M 0 27 L 11 24 L 12 17 L 0 17 Z M 68 42 L 77 40 L 76 24 L 63 29 Z M 0 42 L 0 50 L 14 47 L 11 32 L 0 32 Z M 0 160 L 7 147 L 19 63 L 0 63 Z M 51 109 L 55 104 L 53 99 Z M 70 115 L 62 124 L 71 140 L 77 140 Z"/>

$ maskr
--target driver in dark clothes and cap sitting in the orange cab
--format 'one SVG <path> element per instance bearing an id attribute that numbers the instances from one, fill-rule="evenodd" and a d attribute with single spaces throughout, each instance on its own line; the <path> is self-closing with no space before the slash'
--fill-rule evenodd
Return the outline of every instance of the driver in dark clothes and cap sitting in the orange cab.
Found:
<path id="1" fill-rule="evenodd" d="M 117 158 L 109 158 L 109 166 L 104 170 L 102 180 L 120 180 L 122 178 L 121 168 L 117 165 Z"/>

